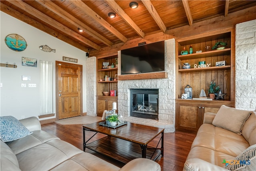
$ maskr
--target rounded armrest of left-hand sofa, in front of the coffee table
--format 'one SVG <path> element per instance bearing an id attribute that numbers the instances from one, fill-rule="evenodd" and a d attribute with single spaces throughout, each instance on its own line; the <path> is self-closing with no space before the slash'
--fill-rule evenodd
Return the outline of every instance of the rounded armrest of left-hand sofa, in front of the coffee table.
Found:
<path id="1" fill-rule="evenodd" d="M 138 158 L 124 165 L 119 171 L 161 171 L 161 167 L 153 160 Z"/>

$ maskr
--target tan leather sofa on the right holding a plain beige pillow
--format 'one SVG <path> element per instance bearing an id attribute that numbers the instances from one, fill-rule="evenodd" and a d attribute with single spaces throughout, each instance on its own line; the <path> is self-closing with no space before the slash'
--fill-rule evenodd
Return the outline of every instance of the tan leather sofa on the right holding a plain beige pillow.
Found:
<path id="1" fill-rule="evenodd" d="M 236 112 L 224 112 L 224 115 L 227 115 L 226 119 L 222 119 L 222 121 L 219 120 L 218 122 L 223 122 L 224 127 L 228 124 L 232 125 L 232 121 L 238 119 L 230 117 L 232 113 Z M 248 111 L 248 113 L 250 113 L 250 115 L 247 117 L 248 119 L 245 119 L 242 125 L 241 135 L 229 131 L 228 129 L 214 126 L 213 121 L 216 117 L 216 113 L 204 113 L 204 122 L 200 126 L 192 143 L 183 170 L 227 171 L 227 169 L 223 168 L 226 165 L 225 162 L 230 163 L 230 161 L 235 161 L 235 157 L 243 153 L 248 147 L 255 146 L 256 144 L 256 112 Z M 216 124 L 217 123 L 215 123 L 215 125 Z M 236 128 L 236 125 L 233 125 L 234 128 Z M 233 166 L 236 165 L 236 163 L 231 164 L 233 164 Z M 244 168 L 244 170 L 255 170 L 255 159 L 253 162 L 250 161 L 250 164 L 246 167 L 247 168 Z"/>

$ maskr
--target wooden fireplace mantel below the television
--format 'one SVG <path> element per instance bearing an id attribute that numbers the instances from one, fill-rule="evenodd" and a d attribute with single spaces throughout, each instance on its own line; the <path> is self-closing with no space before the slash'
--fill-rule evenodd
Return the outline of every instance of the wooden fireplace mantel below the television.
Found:
<path id="1" fill-rule="evenodd" d="M 140 74 L 118 75 L 118 80 L 144 80 L 168 78 L 167 72 L 150 72 Z"/>

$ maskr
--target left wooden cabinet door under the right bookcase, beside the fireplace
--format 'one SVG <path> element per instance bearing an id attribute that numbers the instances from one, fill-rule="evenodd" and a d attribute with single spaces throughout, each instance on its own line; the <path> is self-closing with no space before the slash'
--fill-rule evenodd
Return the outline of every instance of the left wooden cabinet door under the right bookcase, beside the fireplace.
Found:
<path id="1" fill-rule="evenodd" d="M 176 127 L 197 131 L 201 125 L 201 108 L 196 103 L 177 103 Z"/>

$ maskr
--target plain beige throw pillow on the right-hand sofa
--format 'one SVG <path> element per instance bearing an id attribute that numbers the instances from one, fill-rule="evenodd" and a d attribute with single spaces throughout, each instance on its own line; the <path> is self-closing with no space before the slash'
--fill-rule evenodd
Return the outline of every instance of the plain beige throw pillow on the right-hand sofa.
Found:
<path id="1" fill-rule="evenodd" d="M 239 110 L 233 107 L 222 105 L 212 121 L 212 125 L 228 129 L 241 135 L 244 122 L 252 111 Z"/>

